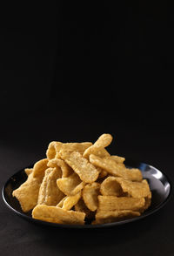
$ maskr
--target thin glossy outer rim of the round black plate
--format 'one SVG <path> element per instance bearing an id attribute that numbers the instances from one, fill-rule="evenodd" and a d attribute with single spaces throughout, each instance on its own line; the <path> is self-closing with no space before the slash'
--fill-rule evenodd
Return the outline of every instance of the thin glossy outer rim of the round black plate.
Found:
<path id="1" fill-rule="evenodd" d="M 70 228 L 70 229 L 95 229 L 95 228 L 103 228 L 103 227 L 111 227 L 111 226 L 120 226 L 120 225 L 125 225 L 127 223 L 131 223 L 131 222 L 140 220 L 140 219 L 144 219 L 145 217 L 148 217 L 151 214 L 159 211 L 171 199 L 171 194 L 172 194 L 172 189 L 173 189 L 172 188 L 172 184 L 171 184 L 171 179 L 169 179 L 168 175 L 166 175 L 165 172 L 160 171 L 159 169 L 157 169 L 157 167 L 155 167 L 153 165 L 150 165 L 150 164 L 147 164 L 147 163 L 144 163 L 144 162 L 141 162 L 141 161 L 136 161 L 136 160 L 128 159 L 128 158 L 126 159 L 126 162 L 130 162 L 130 161 L 133 162 L 133 163 L 136 163 L 136 165 L 142 165 L 143 164 L 143 165 L 149 166 L 149 167 L 157 170 L 157 172 L 161 172 L 163 174 L 163 176 L 165 177 L 166 181 L 170 185 L 169 194 L 168 194 L 167 198 L 164 199 L 164 201 L 162 201 L 159 205 L 157 205 L 155 208 L 149 210 L 148 212 L 145 212 L 142 215 L 134 217 L 132 219 L 124 219 L 124 220 L 120 220 L 120 221 L 117 221 L 117 222 L 110 222 L 110 223 L 97 224 L 97 225 L 91 225 L 91 224 L 90 225 L 70 225 L 70 224 L 58 224 L 58 223 L 53 223 L 53 222 L 47 222 L 47 221 L 43 221 L 43 220 L 40 220 L 40 219 L 33 219 L 32 217 L 26 215 L 24 212 L 18 212 L 5 199 L 5 187 L 9 184 L 10 179 L 12 179 L 13 176 L 17 175 L 17 173 L 24 172 L 25 168 L 30 168 L 34 164 L 31 164 L 31 165 L 28 165 L 26 167 L 21 168 L 19 171 L 14 172 L 10 176 L 10 178 L 6 180 L 6 182 L 4 183 L 3 188 L 2 188 L 3 202 L 4 202 L 4 204 L 8 208 L 10 208 L 10 210 L 12 212 L 16 213 L 18 216 L 20 216 L 20 217 L 22 217 L 22 218 L 24 218 L 24 219 L 26 219 L 26 220 L 28 220 L 30 222 L 33 222 L 33 223 L 36 223 L 36 224 L 39 224 L 39 225 L 44 225 L 44 226 L 54 226 L 54 227 L 60 227 L 60 228 L 66 228 L 66 229 L 67 228 Z M 131 167 L 134 168 L 133 166 L 131 166 Z M 157 178 L 154 177 L 154 179 L 157 179 Z M 158 179 L 158 180 L 160 180 L 160 179 Z"/>

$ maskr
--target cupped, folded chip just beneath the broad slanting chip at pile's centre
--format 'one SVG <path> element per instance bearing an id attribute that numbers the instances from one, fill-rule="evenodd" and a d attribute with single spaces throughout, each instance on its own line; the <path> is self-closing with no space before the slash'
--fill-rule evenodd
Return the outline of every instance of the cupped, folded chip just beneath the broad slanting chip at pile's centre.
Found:
<path id="1" fill-rule="evenodd" d="M 69 177 L 57 179 L 57 186 L 67 196 L 74 196 L 84 188 L 84 182 L 79 178 L 76 172 Z"/>

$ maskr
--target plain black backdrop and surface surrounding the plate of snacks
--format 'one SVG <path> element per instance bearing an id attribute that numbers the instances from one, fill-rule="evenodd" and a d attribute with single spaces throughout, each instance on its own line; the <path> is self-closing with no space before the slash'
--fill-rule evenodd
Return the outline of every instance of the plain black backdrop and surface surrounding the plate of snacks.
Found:
<path id="1" fill-rule="evenodd" d="M 1 21 L 1 186 L 51 140 L 92 141 L 173 175 L 173 9 L 168 2 L 14 6 Z M 3 13 L 3 9 L 1 10 Z M 2 255 L 173 255 L 173 205 L 137 223 L 75 232 L 0 209 Z"/>

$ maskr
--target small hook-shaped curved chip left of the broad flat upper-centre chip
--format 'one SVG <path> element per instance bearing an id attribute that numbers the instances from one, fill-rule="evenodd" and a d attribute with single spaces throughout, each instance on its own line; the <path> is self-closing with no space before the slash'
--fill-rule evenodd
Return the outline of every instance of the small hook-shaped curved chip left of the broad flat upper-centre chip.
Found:
<path id="1" fill-rule="evenodd" d="M 47 165 L 49 167 L 57 167 L 57 166 L 60 167 L 62 171 L 61 178 L 69 177 L 70 174 L 73 172 L 70 166 L 67 165 L 62 159 L 58 159 L 58 158 L 50 159 Z"/>

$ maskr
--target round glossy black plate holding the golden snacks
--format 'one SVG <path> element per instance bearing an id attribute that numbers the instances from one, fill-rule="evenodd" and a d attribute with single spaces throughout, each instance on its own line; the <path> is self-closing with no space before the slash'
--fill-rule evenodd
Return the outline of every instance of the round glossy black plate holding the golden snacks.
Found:
<path id="1" fill-rule="evenodd" d="M 10 207 L 10 210 L 12 210 L 13 212 L 16 212 L 19 216 L 25 219 L 28 219 L 32 222 L 35 222 L 37 224 L 66 227 L 66 228 L 67 227 L 83 228 L 83 229 L 123 225 L 128 222 L 132 222 L 138 219 L 143 219 L 144 217 L 147 217 L 152 213 L 157 212 L 160 208 L 162 208 L 166 204 L 166 202 L 171 197 L 171 182 L 163 172 L 157 170 L 157 168 L 151 165 L 147 165 L 144 163 L 137 163 L 131 160 L 129 161 L 126 160 L 125 165 L 128 167 L 139 168 L 141 170 L 141 172 L 143 173 L 144 179 L 147 179 L 149 182 L 151 193 L 152 193 L 150 208 L 146 210 L 141 216 L 135 217 L 133 219 L 126 219 L 126 220 L 102 224 L 102 225 L 62 225 L 62 224 L 50 223 L 50 222 L 46 222 L 38 219 L 32 219 L 31 212 L 23 213 L 17 199 L 12 197 L 13 190 L 17 189 L 17 187 L 27 179 L 27 175 L 25 174 L 24 169 L 20 170 L 19 172 L 15 173 L 12 177 L 10 177 L 10 179 L 8 179 L 6 184 L 3 186 L 3 191 L 2 191 L 3 201 L 8 207 Z M 26 168 L 30 168 L 31 166 Z"/>

